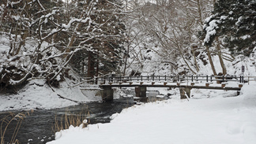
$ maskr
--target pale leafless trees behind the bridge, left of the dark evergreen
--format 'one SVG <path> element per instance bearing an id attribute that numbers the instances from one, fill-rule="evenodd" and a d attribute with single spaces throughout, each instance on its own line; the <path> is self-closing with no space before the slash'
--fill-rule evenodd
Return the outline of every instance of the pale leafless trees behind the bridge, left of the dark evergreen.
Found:
<path id="1" fill-rule="evenodd" d="M 141 31 L 144 37 L 155 39 L 161 49 L 148 47 L 160 57 L 168 57 L 168 61 L 179 61 L 182 58 L 187 72 L 198 73 L 200 54 L 207 53 L 213 73 L 216 74 L 211 54 L 213 51 L 201 46 L 198 31 L 203 29 L 204 20 L 213 9 L 213 2 L 206 0 L 197 1 L 130 1 L 127 5 L 134 13 L 129 13 L 133 20 L 132 27 Z M 129 11 L 130 10 L 130 11 Z M 137 24 L 137 25 L 136 25 Z M 140 36 L 141 37 L 141 36 Z M 138 39 L 140 39 L 138 37 Z M 143 42 L 141 42 L 143 43 Z M 137 46 L 138 48 L 140 46 Z M 197 47 L 195 49 L 195 47 Z M 141 51 L 140 49 L 135 49 Z M 199 54 L 199 55 L 198 55 Z M 192 58 L 193 57 L 193 58 Z M 166 58 L 165 58 L 166 62 Z M 175 66 L 174 63 L 170 63 Z"/>

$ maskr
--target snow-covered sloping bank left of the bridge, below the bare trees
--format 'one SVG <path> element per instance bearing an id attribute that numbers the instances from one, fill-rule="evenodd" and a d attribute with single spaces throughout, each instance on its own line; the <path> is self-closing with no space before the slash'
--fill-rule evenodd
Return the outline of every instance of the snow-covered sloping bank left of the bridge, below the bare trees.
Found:
<path id="1" fill-rule="evenodd" d="M 101 97 L 88 94 L 80 90 L 81 87 L 69 87 L 61 83 L 60 88 L 51 90 L 43 79 L 31 80 L 18 94 L 0 94 L 0 111 L 16 109 L 55 109 L 79 102 L 99 101 Z M 85 93 L 85 92 L 84 92 Z M 89 91 L 86 91 L 89 93 Z"/>

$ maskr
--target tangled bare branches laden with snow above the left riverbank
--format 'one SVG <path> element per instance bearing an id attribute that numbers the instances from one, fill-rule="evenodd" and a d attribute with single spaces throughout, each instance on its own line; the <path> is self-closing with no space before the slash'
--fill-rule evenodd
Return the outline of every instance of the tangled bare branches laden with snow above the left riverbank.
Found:
<path id="1" fill-rule="evenodd" d="M 68 9 L 62 1 L 4 3 L 1 30 L 9 49 L 0 54 L 1 86 L 17 86 L 35 77 L 58 86 L 68 75 L 73 55 L 82 50 L 115 61 L 119 53 L 114 45 L 122 40 L 122 24 L 115 21 L 120 6 L 107 0 L 76 3 L 82 5 L 81 11 Z"/>

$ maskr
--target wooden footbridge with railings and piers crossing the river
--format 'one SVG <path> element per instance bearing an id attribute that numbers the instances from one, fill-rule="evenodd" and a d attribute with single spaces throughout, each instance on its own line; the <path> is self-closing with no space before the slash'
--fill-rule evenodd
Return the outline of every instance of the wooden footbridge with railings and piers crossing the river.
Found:
<path id="1" fill-rule="evenodd" d="M 190 98 L 190 90 L 239 90 L 243 87 L 243 76 L 107 76 L 100 79 L 104 101 L 113 99 L 112 87 L 135 87 L 137 97 L 146 97 L 147 87 L 179 88 L 181 98 Z M 236 84 L 234 85 L 234 83 Z M 232 83 L 232 86 L 228 86 Z"/>

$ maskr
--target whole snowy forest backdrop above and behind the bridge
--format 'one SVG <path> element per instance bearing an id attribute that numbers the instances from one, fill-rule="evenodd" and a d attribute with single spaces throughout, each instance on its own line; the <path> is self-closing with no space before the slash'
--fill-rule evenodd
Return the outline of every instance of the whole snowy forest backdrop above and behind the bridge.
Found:
<path id="1" fill-rule="evenodd" d="M 209 64 L 234 75 L 225 61 L 254 56 L 255 20 L 255 0 L 3 0 L 0 92 L 30 79 L 58 87 L 71 71 L 198 75 Z"/>

